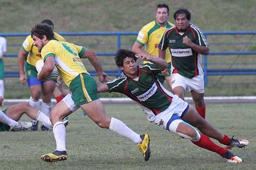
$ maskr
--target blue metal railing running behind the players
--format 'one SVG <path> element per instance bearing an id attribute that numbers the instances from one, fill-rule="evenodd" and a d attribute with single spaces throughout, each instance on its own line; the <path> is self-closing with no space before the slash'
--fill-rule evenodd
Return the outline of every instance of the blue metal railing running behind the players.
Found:
<path id="1" fill-rule="evenodd" d="M 0 36 L 4 37 L 25 37 L 28 36 L 30 33 L 0 33 Z M 121 48 L 121 36 L 131 36 L 137 35 L 138 32 L 113 32 L 113 33 L 106 33 L 106 32 L 95 32 L 95 33 L 85 33 L 85 32 L 77 32 L 77 33 L 59 33 L 62 36 L 117 36 L 116 45 L 117 50 Z M 207 38 L 208 35 L 256 35 L 256 31 L 208 31 L 204 32 L 205 37 Z M 96 53 L 98 56 L 114 56 L 115 53 Z M 208 56 L 211 55 L 256 55 L 256 52 L 210 52 Z M 17 57 L 17 54 L 7 54 L 7 57 Z M 207 85 L 207 77 L 208 76 L 218 76 L 218 75 L 256 75 L 255 68 L 241 68 L 241 69 L 232 69 L 232 68 L 225 68 L 225 69 L 209 69 L 208 68 L 208 61 L 207 55 L 204 56 L 204 82 L 205 86 Z M 96 75 L 95 71 L 90 71 L 92 75 Z M 110 76 L 120 75 L 120 69 L 117 70 L 109 70 L 108 74 Z M 6 77 L 18 77 L 17 72 L 6 72 Z"/>

